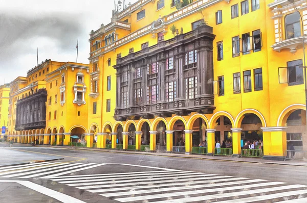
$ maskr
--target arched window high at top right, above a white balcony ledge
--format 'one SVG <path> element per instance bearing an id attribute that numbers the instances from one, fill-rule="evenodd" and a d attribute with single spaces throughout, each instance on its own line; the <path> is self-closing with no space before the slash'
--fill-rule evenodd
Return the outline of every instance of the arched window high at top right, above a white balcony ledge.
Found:
<path id="1" fill-rule="evenodd" d="M 286 39 L 301 36 L 300 16 L 298 12 L 286 15 L 284 21 L 286 24 Z"/>

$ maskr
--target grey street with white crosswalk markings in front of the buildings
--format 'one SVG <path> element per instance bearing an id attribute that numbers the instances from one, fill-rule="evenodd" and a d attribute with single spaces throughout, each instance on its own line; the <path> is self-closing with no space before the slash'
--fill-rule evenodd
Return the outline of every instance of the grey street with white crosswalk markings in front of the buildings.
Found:
<path id="1" fill-rule="evenodd" d="M 307 202 L 305 166 L 30 145 L 0 153 L 0 202 Z M 5 166 L 11 155 L 31 163 Z"/>

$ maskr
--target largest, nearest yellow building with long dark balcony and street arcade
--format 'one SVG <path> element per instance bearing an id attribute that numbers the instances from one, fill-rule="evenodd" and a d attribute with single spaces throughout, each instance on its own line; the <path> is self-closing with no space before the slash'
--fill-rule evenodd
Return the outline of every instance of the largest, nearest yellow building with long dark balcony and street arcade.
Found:
<path id="1" fill-rule="evenodd" d="M 260 139 L 268 159 L 306 150 L 307 2 L 294 4 L 299 13 L 282 0 L 140 0 L 114 11 L 90 36 L 88 136 L 102 148 L 112 136 L 112 148 L 186 153 L 206 140 L 211 155 L 225 140 L 234 156 Z"/>

